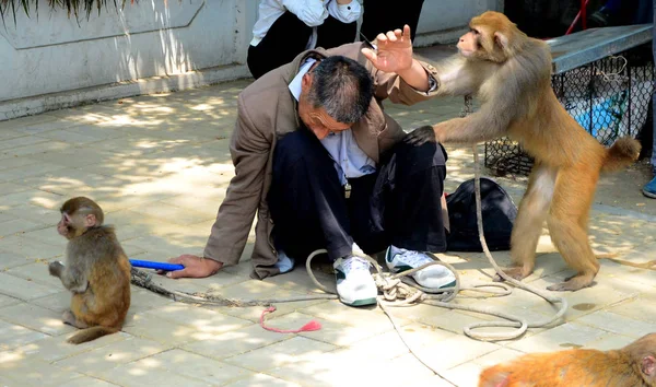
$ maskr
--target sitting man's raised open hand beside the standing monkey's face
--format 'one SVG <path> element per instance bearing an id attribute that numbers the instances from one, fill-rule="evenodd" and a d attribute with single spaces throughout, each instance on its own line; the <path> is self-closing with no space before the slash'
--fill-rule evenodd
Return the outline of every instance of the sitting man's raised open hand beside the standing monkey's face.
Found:
<path id="1" fill-rule="evenodd" d="M 389 31 L 387 34 L 376 36 L 377 51 L 363 48 L 362 54 L 374 64 L 385 72 L 403 72 L 412 66 L 412 42 L 410 38 L 410 26 L 406 24 L 403 31 Z"/>

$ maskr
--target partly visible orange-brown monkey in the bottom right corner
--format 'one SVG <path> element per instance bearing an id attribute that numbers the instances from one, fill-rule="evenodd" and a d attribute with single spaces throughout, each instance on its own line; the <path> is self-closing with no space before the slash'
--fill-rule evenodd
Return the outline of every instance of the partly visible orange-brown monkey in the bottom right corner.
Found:
<path id="1" fill-rule="evenodd" d="M 481 372 L 479 387 L 656 386 L 656 333 L 612 351 L 531 353 Z"/>

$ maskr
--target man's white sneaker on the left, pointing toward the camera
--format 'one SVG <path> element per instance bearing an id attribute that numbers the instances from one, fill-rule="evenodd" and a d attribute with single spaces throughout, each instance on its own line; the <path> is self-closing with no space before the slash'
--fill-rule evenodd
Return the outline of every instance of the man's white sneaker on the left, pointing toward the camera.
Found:
<path id="1" fill-rule="evenodd" d="M 370 262 L 360 257 L 339 258 L 335 261 L 335 279 L 339 300 L 351 306 L 376 303 L 378 289 L 370 272 Z"/>

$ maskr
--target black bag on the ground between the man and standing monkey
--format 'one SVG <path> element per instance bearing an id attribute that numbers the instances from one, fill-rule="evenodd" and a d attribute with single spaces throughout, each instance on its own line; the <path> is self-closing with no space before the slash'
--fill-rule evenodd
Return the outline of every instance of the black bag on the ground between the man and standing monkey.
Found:
<path id="1" fill-rule="evenodd" d="M 448 251 L 482 251 L 476 215 L 473 179 L 462 183 L 446 197 L 450 233 L 447 233 Z M 494 180 L 481 177 L 481 210 L 483 234 L 490 251 L 509 250 L 513 223 L 517 207 L 508 194 Z"/>

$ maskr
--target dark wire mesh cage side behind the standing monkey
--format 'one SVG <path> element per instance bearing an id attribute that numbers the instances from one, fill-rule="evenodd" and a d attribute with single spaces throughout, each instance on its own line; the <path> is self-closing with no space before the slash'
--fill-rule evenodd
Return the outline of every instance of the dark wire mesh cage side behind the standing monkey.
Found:
<path id="1" fill-rule="evenodd" d="M 635 137 L 654 93 L 652 43 L 554 74 L 551 84 L 572 117 L 599 142 Z M 499 176 L 528 175 L 532 159 L 508 138 L 485 142 L 485 166 Z"/>

